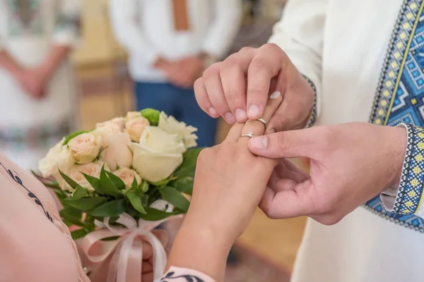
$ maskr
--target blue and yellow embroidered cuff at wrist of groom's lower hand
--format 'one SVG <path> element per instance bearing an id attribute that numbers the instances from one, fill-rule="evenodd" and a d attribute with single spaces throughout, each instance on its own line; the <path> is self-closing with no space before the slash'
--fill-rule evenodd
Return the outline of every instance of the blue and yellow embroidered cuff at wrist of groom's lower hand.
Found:
<path id="1" fill-rule="evenodd" d="M 388 212 L 394 214 L 416 214 L 424 218 L 424 129 L 401 123 L 407 130 L 408 141 L 399 188 L 388 188 L 381 198 Z"/>

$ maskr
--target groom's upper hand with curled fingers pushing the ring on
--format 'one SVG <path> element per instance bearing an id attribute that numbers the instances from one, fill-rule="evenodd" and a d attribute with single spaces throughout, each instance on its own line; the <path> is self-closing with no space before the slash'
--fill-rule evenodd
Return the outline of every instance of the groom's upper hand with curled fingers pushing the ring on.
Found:
<path id="1" fill-rule="evenodd" d="M 201 109 L 230 124 L 261 118 L 269 95 L 281 92 L 283 102 L 267 133 L 303 128 L 314 102 L 312 87 L 276 44 L 245 47 L 213 64 L 196 80 L 194 91 Z"/>

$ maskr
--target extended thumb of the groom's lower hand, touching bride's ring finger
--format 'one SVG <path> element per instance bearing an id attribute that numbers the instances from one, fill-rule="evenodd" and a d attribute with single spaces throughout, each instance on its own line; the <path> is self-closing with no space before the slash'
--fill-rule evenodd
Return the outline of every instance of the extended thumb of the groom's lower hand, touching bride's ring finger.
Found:
<path id="1" fill-rule="evenodd" d="M 314 137 L 310 129 L 283 131 L 249 140 L 253 154 L 271 159 L 307 157 L 314 159 Z"/>

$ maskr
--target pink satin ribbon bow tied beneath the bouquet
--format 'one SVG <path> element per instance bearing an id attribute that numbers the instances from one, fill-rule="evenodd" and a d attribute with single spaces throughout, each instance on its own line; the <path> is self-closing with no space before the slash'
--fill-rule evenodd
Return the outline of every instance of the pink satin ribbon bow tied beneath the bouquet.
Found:
<path id="1" fill-rule="evenodd" d="M 145 240 L 152 245 L 153 276 L 154 279 L 158 279 L 165 272 L 167 255 L 162 243 L 151 231 L 169 219 L 161 221 L 140 219 L 137 223 L 129 214 L 121 214 L 116 222 L 122 226 L 110 226 L 109 218 L 105 218 L 103 222 L 95 221 L 95 225 L 101 229 L 88 233 L 83 238 L 82 250 L 88 260 L 95 265 L 102 264 L 112 256 L 105 282 L 140 282 L 143 264 L 142 241 Z M 116 236 L 119 236 L 116 240 L 102 240 Z"/>

